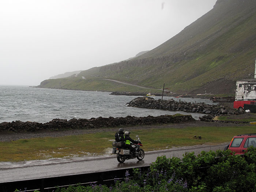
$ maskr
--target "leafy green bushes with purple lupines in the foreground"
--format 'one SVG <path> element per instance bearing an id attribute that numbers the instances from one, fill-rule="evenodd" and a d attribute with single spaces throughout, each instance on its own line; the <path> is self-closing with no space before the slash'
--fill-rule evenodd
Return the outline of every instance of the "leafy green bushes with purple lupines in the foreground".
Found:
<path id="1" fill-rule="evenodd" d="M 230 150 L 202 151 L 199 155 L 185 153 L 182 161 L 177 157 L 158 157 L 147 172 L 133 169 L 133 178 L 125 173 L 124 180 L 115 184 L 69 186 L 56 192 L 256 192 L 256 148 L 248 148 L 245 155 L 231 155 Z M 131 179 L 132 178 L 132 179 Z"/>

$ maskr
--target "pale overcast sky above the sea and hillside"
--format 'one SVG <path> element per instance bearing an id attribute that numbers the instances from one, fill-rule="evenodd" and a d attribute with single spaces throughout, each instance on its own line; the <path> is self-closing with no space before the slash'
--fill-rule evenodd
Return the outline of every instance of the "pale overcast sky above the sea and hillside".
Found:
<path id="1" fill-rule="evenodd" d="M 39 85 L 65 72 L 151 50 L 216 0 L 1 0 L 0 84 Z"/>

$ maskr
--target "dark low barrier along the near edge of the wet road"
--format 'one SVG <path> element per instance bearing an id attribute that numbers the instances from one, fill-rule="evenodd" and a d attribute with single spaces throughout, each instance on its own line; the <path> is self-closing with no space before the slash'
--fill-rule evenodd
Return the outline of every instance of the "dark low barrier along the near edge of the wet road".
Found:
<path id="1" fill-rule="evenodd" d="M 150 166 L 142 167 L 133 167 L 140 168 L 142 173 L 147 171 Z M 130 176 L 133 177 L 133 168 L 125 168 L 104 172 L 95 172 L 95 173 L 85 173 L 85 174 L 76 174 L 60 177 L 49 177 L 49 178 L 40 178 L 33 180 L 23 180 L 23 181 L 12 181 L 0 183 L 1 192 L 14 192 L 16 189 L 35 191 L 39 190 L 40 192 L 52 192 L 56 187 L 66 187 L 69 185 L 90 185 L 90 183 L 96 182 L 97 184 L 105 184 L 107 186 L 114 184 L 114 180 L 125 178 L 125 172 L 128 170 Z"/>

